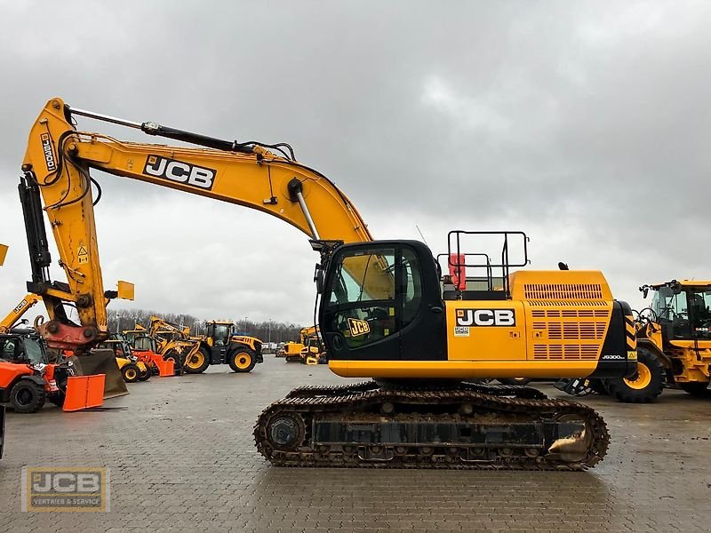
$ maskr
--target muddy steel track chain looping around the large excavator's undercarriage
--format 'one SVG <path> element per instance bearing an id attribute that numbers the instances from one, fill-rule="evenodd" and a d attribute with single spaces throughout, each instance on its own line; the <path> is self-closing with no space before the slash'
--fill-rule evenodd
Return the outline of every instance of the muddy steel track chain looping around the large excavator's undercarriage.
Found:
<path id="1" fill-rule="evenodd" d="M 493 388 L 492 388 L 493 387 Z M 503 388 L 501 388 L 503 387 Z M 474 390 L 473 390 L 474 389 Z M 536 391 L 539 398 L 504 397 L 508 395 L 531 394 L 527 389 Z M 493 394 L 478 392 L 486 390 Z M 300 446 L 293 451 L 274 449 L 268 441 L 267 426 L 277 413 L 291 413 L 303 420 L 307 434 L 304 442 L 308 443 L 310 418 L 327 413 L 342 415 L 346 412 L 358 413 L 373 409 L 384 402 L 419 404 L 423 410 L 428 406 L 443 403 L 472 403 L 475 410 L 492 413 L 507 413 L 525 418 L 536 419 L 541 416 L 560 418 L 563 415 L 574 415 L 584 420 L 593 433 L 592 442 L 587 450 L 587 457 L 579 462 L 568 463 L 551 456 L 539 457 L 497 457 L 492 462 L 466 462 L 459 457 L 444 457 L 442 455 L 395 456 L 385 462 L 363 461 L 357 456 L 348 456 L 342 451 L 317 450 L 308 446 Z M 538 411 L 538 412 L 536 412 Z M 427 413 L 420 413 L 427 416 Z M 446 420 L 436 416 L 437 420 Z M 446 391 L 407 391 L 379 390 L 375 382 L 364 382 L 345 386 L 304 386 L 294 389 L 283 400 L 272 403 L 264 410 L 254 426 L 254 438 L 257 449 L 270 462 L 279 466 L 307 467 L 370 467 L 370 468 L 449 468 L 449 469 L 480 469 L 480 470 L 585 470 L 603 459 L 610 442 L 603 418 L 595 410 L 578 402 L 568 400 L 551 400 L 528 386 L 483 386 L 479 384 L 461 384 L 453 390 Z"/>

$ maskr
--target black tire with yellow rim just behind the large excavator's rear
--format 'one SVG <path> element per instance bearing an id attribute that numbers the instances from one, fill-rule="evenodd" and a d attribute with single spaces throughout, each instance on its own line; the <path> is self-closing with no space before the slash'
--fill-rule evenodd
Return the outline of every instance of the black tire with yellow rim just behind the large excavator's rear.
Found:
<path id="1" fill-rule="evenodd" d="M 637 375 L 635 379 L 608 378 L 604 383 L 607 392 L 618 402 L 654 402 L 664 390 L 664 367 L 659 358 L 644 348 L 637 348 Z"/>

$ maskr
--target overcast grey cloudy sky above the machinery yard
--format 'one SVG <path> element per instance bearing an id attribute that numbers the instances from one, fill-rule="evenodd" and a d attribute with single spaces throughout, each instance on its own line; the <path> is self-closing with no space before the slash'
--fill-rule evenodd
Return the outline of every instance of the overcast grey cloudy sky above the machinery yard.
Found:
<path id="1" fill-rule="evenodd" d="M 0 7 L 0 243 L 11 245 L 0 313 L 28 278 L 16 185 L 29 127 L 52 96 L 216 137 L 290 142 L 376 238 L 419 238 L 417 225 L 441 252 L 451 228 L 521 229 L 531 267 L 601 269 L 636 306 L 643 282 L 711 277 L 709 3 Z M 310 321 L 316 257 L 298 230 L 94 177 L 104 280 L 137 285 L 133 304 L 112 306 Z"/>

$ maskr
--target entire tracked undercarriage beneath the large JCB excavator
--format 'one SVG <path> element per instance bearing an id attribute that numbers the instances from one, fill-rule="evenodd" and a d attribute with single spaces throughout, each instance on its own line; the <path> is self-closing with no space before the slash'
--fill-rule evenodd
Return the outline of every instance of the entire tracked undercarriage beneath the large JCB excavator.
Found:
<path id="1" fill-rule="evenodd" d="M 272 464 L 309 467 L 585 470 L 609 443 L 585 405 L 467 382 L 300 387 L 261 413 L 254 437 Z"/>

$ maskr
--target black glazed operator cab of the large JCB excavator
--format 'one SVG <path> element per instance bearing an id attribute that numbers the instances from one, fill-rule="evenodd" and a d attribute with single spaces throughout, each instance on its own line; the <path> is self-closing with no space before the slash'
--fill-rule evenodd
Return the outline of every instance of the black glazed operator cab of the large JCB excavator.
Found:
<path id="1" fill-rule="evenodd" d="M 346 244 L 332 255 L 321 300 L 331 361 L 446 360 L 432 253 L 417 241 Z"/>

